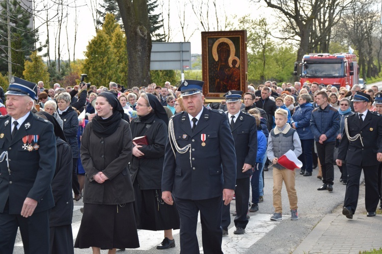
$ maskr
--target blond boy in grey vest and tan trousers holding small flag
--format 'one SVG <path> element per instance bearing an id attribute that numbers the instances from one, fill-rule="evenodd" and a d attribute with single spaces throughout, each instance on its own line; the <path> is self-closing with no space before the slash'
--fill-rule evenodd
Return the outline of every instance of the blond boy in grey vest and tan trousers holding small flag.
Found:
<path id="1" fill-rule="evenodd" d="M 301 141 L 296 130 L 292 129 L 287 123 L 288 112 L 285 109 L 278 109 L 275 112 L 275 129 L 269 133 L 268 148 L 266 154 L 273 167 L 273 206 L 275 213 L 270 217 L 271 220 L 283 219 L 283 206 L 281 204 L 281 189 L 283 181 L 288 193 L 291 219 L 298 219 L 297 213 L 297 193 L 294 188 L 295 170 L 289 170 L 278 164 L 279 157 L 287 151 L 292 150 L 296 157 L 302 153 Z"/>

